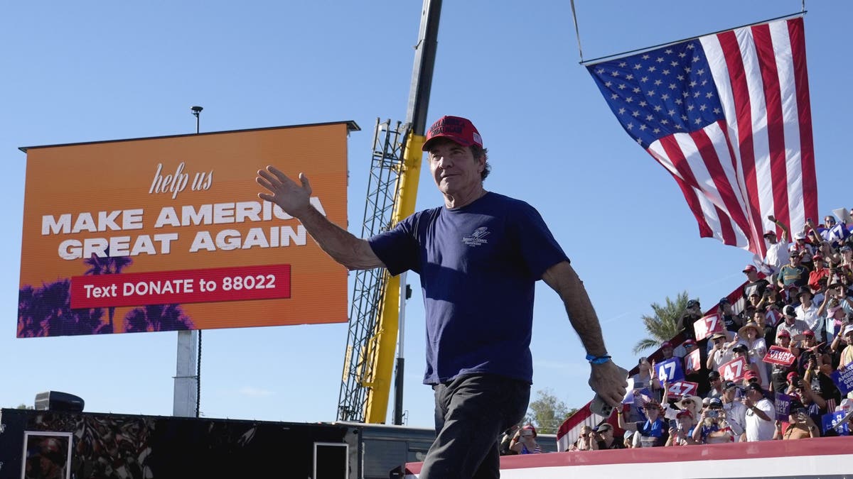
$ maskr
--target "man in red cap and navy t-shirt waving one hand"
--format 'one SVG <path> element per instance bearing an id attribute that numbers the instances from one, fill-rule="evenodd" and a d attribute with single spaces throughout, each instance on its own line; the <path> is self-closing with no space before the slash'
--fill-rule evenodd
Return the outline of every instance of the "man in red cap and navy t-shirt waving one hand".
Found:
<path id="1" fill-rule="evenodd" d="M 258 197 L 298 218 L 350 269 L 413 270 L 421 276 L 427 326 L 424 383 L 435 392 L 436 440 L 421 479 L 499 477 L 497 438 L 530 400 L 533 291 L 544 280 L 562 299 L 591 365 L 590 387 L 612 407 L 624 371 L 610 361 L 583 282 L 542 216 L 519 199 L 486 191 L 487 150 L 467 118 L 432 124 L 422 147 L 444 205 L 416 212 L 361 240 L 310 205 L 310 182 L 274 166 L 258 171 Z"/>

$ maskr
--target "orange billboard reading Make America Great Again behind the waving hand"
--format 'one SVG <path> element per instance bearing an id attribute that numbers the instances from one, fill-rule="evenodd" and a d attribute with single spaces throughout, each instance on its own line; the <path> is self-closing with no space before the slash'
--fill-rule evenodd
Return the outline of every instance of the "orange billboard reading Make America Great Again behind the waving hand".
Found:
<path id="1" fill-rule="evenodd" d="M 345 322 L 346 269 L 258 199 L 274 164 L 347 223 L 352 122 L 26 147 L 19 338 Z"/>

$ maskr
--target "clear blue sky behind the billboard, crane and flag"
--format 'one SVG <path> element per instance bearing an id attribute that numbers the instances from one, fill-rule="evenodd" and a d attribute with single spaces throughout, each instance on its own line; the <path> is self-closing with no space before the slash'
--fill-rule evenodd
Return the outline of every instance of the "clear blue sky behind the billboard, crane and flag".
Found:
<path id="1" fill-rule="evenodd" d="M 500 5 L 500 6 L 497 6 Z M 686 6 L 689 5 L 689 6 Z M 850 207 L 853 4 L 805 19 L 820 210 Z M 577 2 L 586 58 L 798 11 L 800 2 Z M 22 146 L 354 120 L 351 231 L 358 234 L 375 118 L 403 120 L 421 1 L 16 2 L 0 15 L 0 406 L 80 395 L 89 411 L 171 414 L 176 332 L 15 338 L 26 156 Z M 839 40 L 840 39 L 840 40 Z M 584 280 L 618 363 L 635 364 L 640 317 L 687 290 L 704 304 L 740 283 L 746 251 L 699 239 L 670 175 L 619 127 L 577 64 L 565 1 L 444 2 L 429 120 L 472 118 L 490 149 L 486 188 L 536 206 Z M 841 60 L 841 61 L 839 61 Z M 844 114 L 842 114 L 844 113 Z M 253 165 L 247 164 L 247 168 Z M 92 172 L 97 178 L 97 172 Z M 421 177 L 418 208 L 440 204 Z M 405 407 L 432 426 L 421 384 L 420 285 L 407 309 Z M 589 366 L 558 298 L 537 288 L 534 390 L 589 401 Z M 331 421 L 346 325 L 203 335 L 201 411 L 213 418 Z M 389 410 L 389 414 L 391 411 Z"/>

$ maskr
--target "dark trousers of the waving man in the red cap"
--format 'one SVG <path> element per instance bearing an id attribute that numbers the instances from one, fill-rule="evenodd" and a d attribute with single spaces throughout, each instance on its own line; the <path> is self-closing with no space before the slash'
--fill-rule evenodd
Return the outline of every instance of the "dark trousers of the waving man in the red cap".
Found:
<path id="1" fill-rule="evenodd" d="M 500 477 L 498 438 L 524 418 L 531 385 L 494 374 L 472 374 L 436 384 L 432 390 L 436 439 L 419 477 Z"/>

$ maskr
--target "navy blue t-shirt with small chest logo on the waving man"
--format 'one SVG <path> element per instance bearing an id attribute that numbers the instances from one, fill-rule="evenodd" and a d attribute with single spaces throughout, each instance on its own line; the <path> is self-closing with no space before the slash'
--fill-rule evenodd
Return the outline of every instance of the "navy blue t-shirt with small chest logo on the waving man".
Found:
<path id="1" fill-rule="evenodd" d="M 391 274 L 421 275 L 425 384 L 483 372 L 532 382 L 534 284 L 568 261 L 538 211 L 486 193 L 461 208 L 419 211 L 368 241 Z"/>

